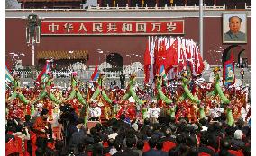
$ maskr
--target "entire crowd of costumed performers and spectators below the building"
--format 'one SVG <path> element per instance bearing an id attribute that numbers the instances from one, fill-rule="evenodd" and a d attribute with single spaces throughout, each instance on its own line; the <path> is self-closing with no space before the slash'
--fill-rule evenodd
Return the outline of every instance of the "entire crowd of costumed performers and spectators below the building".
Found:
<path id="1" fill-rule="evenodd" d="M 130 76 L 124 90 L 106 88 L 103 82 L 78 82 L 77 74 L 72 74 L 71 86 L 59 90 L 53 87 L 52 75 L 47 75 L 41 86 L 30 88 L 19 87 L 16 75 L 17 83 L 6 89 L 6 152 L 39 156 L 251 155 L 248 87 L 223 87 L 222 93 L 215 91 L 215 82 L 201 82 L 198 75 L 189 81 L 185 77 L 156 82 L 155 90 L 149 85 L 140 89 Z"/>

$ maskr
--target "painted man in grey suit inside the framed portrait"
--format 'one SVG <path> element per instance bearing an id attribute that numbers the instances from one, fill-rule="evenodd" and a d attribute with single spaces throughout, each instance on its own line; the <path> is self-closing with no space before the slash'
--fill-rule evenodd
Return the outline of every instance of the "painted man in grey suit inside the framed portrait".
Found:
<path id="1" fill-rule="evenodd" d="M 229 31 L 224 33 L 225 41 L 245 41 L 245 33 L 240 31 L 242 19 L 238 16 L 231 16 L 229 19 Z"/>

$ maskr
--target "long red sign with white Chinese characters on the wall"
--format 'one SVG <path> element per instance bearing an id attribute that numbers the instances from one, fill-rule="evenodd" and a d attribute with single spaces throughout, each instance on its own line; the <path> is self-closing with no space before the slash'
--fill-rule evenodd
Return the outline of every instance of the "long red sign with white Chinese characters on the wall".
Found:
<path id="1" fill-rule="evenodd" d="M 184 20 L 170 21 L 41 21 L 41 35 L 170 35 L 184 34 Z"/>

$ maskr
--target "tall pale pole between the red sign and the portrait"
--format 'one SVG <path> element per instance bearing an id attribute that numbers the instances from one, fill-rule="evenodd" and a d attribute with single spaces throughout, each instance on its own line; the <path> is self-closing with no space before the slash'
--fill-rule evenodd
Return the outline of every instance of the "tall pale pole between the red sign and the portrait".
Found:
<path id="1" fill-rule="evenodd" d="M 201 53 L 201 56 L 203 58 L 203 50 L 204 50 L 204 41 L 203 41 L 203 38 L 204 38 L 204 25 L 203 25 L 203 0 L 200 0 L 200 4 L 199 4 L 199 37 L 200 37 L 200 53 Z"/>

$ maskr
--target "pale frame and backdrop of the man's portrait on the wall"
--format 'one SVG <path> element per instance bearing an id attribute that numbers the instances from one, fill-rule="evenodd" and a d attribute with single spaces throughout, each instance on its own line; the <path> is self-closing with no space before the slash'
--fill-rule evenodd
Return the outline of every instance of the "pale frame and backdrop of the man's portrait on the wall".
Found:
<path id="1" fill-rule="evenodd" d="M 238 16 L 242 19 L 240 34 L 237 35 L 238 39 L 228 38 L 230 32 L 227 33 L 229 28 L 229 18 L 232 16 Z M 243 37 L 241 40 L 239 37 Z M 223 43 L 247 43 L 247 13 L 223 13 Z"/>

